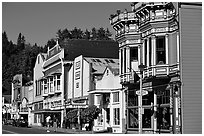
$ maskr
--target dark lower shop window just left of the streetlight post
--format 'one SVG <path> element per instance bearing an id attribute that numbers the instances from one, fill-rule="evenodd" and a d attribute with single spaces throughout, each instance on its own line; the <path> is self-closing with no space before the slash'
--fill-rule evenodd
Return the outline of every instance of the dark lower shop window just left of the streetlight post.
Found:
<path id="1" fill-rule="evenodd" d="M 138 128 L 138 109 L 128 109 L 128 128 Z"/>

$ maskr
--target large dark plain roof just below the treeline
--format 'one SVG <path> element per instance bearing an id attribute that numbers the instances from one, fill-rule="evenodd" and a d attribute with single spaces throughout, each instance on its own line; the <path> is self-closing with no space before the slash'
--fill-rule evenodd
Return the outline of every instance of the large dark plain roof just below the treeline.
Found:
<path id="1" fill-rule="evenodd" d="M 65 51 L 65 60 L 73 61 L 76 57 L 119 58 L 119 45 L 115 41 L 104 40 L 67 40 L 60 44 Z"/>

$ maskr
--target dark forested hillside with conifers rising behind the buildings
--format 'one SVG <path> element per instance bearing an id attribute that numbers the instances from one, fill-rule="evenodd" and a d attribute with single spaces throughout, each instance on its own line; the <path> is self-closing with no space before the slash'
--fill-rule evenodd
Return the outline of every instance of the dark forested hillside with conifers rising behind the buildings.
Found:
<path id="1" fill-rule="evenodd" d="M 36 56 L 40 52 L 46 52 L 47 47 L 53 47 L 56 39 L 63 43 L 66 39 L 85 39 L 85 40 L 113 40 L 112 34 L 108 29 L 92 28 L 82 31 L 80 28 L 72 30 L 63 29 L 56 32 L 56 37 L 47 41 L 46 45 L 31 45 L 26 41 L 26 36 L 19 33 L 16 44 L 10 41 L 7 33 L 2 33 L 2 94 L 11 94 L 11 82 L 16 74 L 23 75 L 23 84 L 33 80 L 33 68 Z M 37 43 L 38 41 L 36 41 Z"/>

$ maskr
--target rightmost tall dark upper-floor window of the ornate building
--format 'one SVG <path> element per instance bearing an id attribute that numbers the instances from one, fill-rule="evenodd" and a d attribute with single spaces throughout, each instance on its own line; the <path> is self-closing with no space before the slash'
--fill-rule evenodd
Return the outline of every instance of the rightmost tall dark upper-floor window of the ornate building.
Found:
<path id="1" fill-rule="evenodd" d="M 156 64 L 166 64 L 165 36 L 156 38 Z"/>

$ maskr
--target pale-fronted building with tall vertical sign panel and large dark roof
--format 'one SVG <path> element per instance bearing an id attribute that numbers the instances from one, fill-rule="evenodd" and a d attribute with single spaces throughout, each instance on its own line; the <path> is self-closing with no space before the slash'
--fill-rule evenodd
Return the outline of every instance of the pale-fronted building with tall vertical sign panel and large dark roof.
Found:
<path id="1" fill-rule="evenodd" d="M 80 55 L 83 55 L 80 56 Z M 67 40 L 39 54 L 34 68 L 34 124 L 44 125 L 45 118 L 58 118 L 60 126 L 66 113 L 89 105 L 92 88 L 91 64 L 84 57 L 118 57 L 114 41 Z M 78 122 L 77 122 L 78 124 Z"/>

